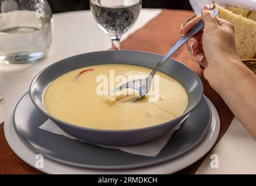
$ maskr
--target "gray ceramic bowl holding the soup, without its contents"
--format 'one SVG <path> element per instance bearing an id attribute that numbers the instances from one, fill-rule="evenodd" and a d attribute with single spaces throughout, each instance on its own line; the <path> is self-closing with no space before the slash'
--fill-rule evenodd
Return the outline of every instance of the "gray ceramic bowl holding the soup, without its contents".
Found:
<path id="1" fill-rule="evenodd" d="M 131 145 L 160 137 L 184 119 L 197 106 L 203 95 L 201 79 L 188 66 L 169 59 L 160 71 L 176 78 L 188 92 L 187 110 L 174 120 L 152 127 L 134 130 L 97 130 L 79 127 L 61 121 L 47 113 L 43 104 L 43 92 L 48 84 L 71 70 L 85 66 L 107 63 L 123 63 L 153 68 L 162 56 L 139 51 L 99 51 L 83 53 L 56 62 L 37 74 L 30 85 L 30 97 L 34 105 L 50 120 L 54 121 L 66 133 L 80 140 L 102 145 Z M 129 113 L 127 113 L 129 114 Z M 100 117 L 100 116 L 99 116 Z"/>

